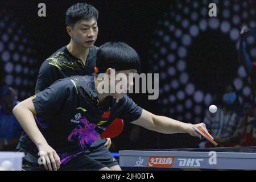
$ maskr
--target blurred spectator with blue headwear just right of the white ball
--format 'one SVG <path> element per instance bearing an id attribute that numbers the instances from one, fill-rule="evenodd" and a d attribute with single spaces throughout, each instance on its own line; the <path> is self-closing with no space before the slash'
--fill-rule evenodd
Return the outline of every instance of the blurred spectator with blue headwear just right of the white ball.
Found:
<path id="1" fill-rule="evenodd" d="M 217 112 L 205 113 L 204 123 L 209 133 L 218 143 L 218 147 L 233 147 L 240 143 L 234 134 L 242 121 L 242 109 L 233 85 L 227 85 L 223 92 L 217 95 Z M 234 140 L 236 138 L 236 140 Z M 211 143 L 201 142 L 203 147 L 214 147 Z"/>

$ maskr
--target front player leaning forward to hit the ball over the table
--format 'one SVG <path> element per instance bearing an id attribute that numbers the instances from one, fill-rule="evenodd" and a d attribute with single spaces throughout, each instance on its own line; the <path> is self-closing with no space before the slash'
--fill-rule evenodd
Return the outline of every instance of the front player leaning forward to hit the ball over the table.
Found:
<path id="1" fill-rule="evenodd" d="M 98 79 L 100 73 L 110 80 L 114 70 L 129 77 L 129 73 L 140 69 L 137 52 L 127 44 L 103 44 L 98 49 L 96 66 L 94 76 L 58 80 L 14 107 L 15 117 L 31 139 L 20 141 L 30 156 L 24 158 L 26 166 L 50 171 L 121 170 L 118 165 L 108 168 L 88 156 L 90 144 L 116 118 L 159 133 L 200 137 L 193 129 L 196 126 L 209 134 L 204 123 L 192 125 L 152 114 L 136 105 L 126 93 L 99 92 L 102 81 L 106 81 Z M 109 88 L 117 84 L 110 80 Z M 133 86 L 133 79 L 127 86 Z"/>

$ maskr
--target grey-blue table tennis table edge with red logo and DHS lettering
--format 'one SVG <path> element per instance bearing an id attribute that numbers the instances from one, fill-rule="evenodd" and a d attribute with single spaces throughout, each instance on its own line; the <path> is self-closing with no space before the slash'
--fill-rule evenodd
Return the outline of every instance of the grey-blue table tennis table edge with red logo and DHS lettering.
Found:
<path id="1" fill-rule="evenodd" d="M 119 151 L 124 170 L 256 169 L 256 147 Z"/>

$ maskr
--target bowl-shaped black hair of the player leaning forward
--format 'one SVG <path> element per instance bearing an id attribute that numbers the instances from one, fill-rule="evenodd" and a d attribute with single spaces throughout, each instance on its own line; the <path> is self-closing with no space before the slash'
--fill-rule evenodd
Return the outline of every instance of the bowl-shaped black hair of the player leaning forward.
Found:
<path id="1" fill-rule="evenodd" d="M 123 42 L 108 42 L 97 52 L 96 67 L 98 73 L 106 72 L 108 68 L 116 71 L 136 69 L 141 71 L 141 60 L 138 53 Z"/>

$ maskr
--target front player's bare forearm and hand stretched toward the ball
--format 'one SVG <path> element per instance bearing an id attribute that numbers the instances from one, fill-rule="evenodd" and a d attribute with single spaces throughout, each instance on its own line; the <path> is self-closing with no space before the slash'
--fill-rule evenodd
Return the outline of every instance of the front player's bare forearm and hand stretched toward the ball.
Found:
<path id="1" fill-rule="evenodd" d="M 193 137 L 200 137 L 200 135 L 197 134 L 193 129 L 193 126 L 199 127 L 200 129 L 203 129 L 207 134 L 209 134 L 204 123 L 199 123 L 197 125 L 183 123 L 175 119 L 152 114 L 144 109 L 142 110 L 141 117 L 131 123 L 142 126 L 148 130 L 165 134 L 188 133 Z M 212 136 L 210 135 L 210 137 Z"/>

